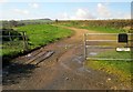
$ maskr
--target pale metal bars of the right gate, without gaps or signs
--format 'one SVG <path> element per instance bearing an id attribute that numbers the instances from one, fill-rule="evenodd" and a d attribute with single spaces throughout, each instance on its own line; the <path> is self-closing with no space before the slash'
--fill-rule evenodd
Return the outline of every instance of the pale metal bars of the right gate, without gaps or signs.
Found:
<path id="1" fill-rule="evenodd" d="M 105 35 L 105 34 L 109 34 L 109 35 L 119 35 L 119 33 L 84 33 L 84 59 L 85 60 L 106 60 L 106 61 L 133 61 L 133 59 L 105 59 L 105 58 L 88 58 L 88 48 L 89 47 L 92 47 L 92 45 L 86 45 L 86 42 L 117 42 L 117 40 L 88 40 L 86 37 L 88 35 Z M 132 35 L 133 33 L 126 33 L 127 35 Z M 129 40 L 129 41 L 133 41 L 132 39 Z M 126 43 L 127 44 L 127 43 Z M 117 47 L 109 47 L 109 45 L 93 45 L 93 48 L 95 49 L 115 49 Z M 133 49 L 133 47 L 130 47 L 131 49 Z"/>

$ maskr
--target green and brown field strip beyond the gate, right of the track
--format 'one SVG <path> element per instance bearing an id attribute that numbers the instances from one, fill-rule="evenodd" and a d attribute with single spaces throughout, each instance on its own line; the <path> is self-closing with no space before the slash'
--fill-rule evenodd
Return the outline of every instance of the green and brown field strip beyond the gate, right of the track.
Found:
<path id="1" fill-rule="evenodd" d="M 84 21 L 73 20 L 73 21 L 60 21 L 60 24 L 104 33 L 117 33 L 131 31 L 130 20 L 84 20 Z"/>

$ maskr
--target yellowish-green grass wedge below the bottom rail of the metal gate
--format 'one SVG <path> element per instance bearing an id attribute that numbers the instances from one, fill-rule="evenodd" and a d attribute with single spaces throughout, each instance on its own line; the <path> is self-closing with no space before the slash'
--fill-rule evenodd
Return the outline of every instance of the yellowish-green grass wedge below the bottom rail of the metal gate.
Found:
<path id="1" fill-rule="evenodd" d="M 121 81 L 131 82 L 132 62 L 127 61 L 88 61 L 86 67 L 116 75 Z"/>

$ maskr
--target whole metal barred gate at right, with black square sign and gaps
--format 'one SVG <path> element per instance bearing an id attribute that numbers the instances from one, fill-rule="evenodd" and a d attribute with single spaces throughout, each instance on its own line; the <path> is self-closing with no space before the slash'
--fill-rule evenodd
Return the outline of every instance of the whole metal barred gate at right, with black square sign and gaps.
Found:
<path id="1" fill-rule="evenodd" d="M 85 60 L 133 61 L 133 33 L 85 33 Z"/>

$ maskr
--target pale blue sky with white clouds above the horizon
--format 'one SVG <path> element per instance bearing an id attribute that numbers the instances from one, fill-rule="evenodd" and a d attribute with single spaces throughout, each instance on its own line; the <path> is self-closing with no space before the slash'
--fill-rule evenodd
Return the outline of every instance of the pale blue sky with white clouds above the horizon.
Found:
<path id="1" fill-rule="evenodd" d="M 0 0 L 0 20 L 131 19 L 131 0 Z"/>

